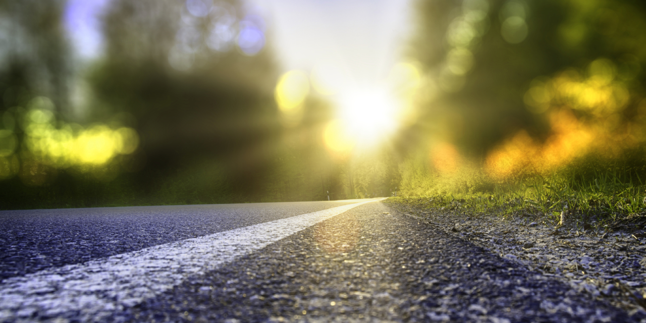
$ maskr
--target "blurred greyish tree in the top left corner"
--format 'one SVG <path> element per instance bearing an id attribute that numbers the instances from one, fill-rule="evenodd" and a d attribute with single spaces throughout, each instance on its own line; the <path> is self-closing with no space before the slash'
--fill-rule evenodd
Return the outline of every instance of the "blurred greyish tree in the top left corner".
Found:
<path id="1" fill-rule="evenodd" d="M 70 49 L 57 0 L 0 1 L 0 111 L 48 96 L 59 112 L 68 112 Z"/>

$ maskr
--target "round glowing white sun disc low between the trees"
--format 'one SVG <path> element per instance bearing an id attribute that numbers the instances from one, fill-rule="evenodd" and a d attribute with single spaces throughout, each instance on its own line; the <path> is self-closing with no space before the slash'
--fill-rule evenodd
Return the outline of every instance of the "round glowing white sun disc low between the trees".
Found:
<path id="1" fill-rule="evenodd" d="M 358 145 L 373 146 L 395 131 L 397 101 L 387 89 L 355 90 L 340 98 L 339 120 Z"/>

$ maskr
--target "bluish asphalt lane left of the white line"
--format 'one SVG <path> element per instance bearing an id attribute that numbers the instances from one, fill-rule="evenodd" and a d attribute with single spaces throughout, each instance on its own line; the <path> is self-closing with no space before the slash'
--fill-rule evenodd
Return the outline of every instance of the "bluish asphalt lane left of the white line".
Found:
<path id="1" fill-rule="evenodd" d="M 356 202 L 0 211 L 0 280 Z"/>

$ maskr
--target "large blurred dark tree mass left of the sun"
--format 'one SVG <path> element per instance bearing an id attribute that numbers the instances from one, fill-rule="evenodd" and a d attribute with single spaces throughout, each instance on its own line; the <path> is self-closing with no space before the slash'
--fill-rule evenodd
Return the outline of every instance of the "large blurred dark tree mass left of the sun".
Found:
<path id="1" fill-rule="evenodd" d="M 265 26 L 238 1 L 113 1 L 107 56 L 92 72 L 95 118 L 132 116 L 143 182 L 217 158 L 253 185 L 278 133 Z M 247 192 L 249 193 L 249 192 Z"/>

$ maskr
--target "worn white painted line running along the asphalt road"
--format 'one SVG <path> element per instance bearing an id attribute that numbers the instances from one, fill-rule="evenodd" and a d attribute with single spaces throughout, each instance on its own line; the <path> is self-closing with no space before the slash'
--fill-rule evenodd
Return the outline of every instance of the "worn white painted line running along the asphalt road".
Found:
<path id="1" fill-rule="evenodd" d="M 380 199 L 383 200 L 383 199 Z M 8 278 L 0 285 L 0 322 L 74 315 L 82 322 L 109 316 L 155 297 L 191 275 L 297 233 L 371 200 L 250 225 L 139 251 Z"/>

